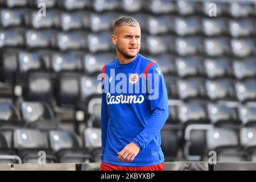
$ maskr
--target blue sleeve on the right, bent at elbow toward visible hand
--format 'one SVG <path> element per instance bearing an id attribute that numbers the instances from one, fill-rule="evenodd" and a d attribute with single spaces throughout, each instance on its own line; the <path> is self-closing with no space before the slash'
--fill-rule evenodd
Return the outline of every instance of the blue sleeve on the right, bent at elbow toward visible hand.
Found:
<path id="1" fill-rule="evenodd" d="M 151 74 L 150 74 L 151 73 Z M 151 79 L 150 79 L 151 75 Z M 168 96 L 163 73 L 157 64 L 153 65 L 147 73 L 147 79 L 150 86 L 148 87 L 148 100 L 150 102 L 151 117 L 148 119 L 146 126 L 132 142 L 143 150 L 148 143 L 160 132 L 168 118 Z M 150 93 L 154 90 L 153 93 Z"/>

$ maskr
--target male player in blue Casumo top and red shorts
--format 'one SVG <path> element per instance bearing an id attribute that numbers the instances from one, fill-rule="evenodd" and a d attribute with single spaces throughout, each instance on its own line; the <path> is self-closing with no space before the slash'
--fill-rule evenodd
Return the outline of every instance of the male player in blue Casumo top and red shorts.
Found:
<path id="1" fill-rule="evenodd" d="M 163 170 L 160 130 L 168 118 L 163 73 L 139 54 L 137 20 L 119 18 L 113 31 L 117 59 L 102 68 L 100 170 Z"/>

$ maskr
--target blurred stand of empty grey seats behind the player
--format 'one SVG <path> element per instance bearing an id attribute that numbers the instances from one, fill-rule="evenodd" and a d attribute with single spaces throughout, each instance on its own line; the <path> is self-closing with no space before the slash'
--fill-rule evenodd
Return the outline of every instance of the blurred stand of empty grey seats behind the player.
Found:
<path id="1" fill-rule="evenodd" d="M 255 161 L 255 1 L 0 0 L 0 163 L 100 162 L 97 75 L 125 15 L 165 76 L 166 161 Z"/>

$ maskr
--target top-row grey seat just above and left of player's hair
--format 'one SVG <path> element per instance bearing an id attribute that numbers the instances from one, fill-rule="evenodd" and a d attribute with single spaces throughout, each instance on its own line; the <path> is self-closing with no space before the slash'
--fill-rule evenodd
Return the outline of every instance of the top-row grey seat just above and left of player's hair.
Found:
<path id="1" fill-rule="evenodd" d="M 118 0 L 93 0 L 92 7 L 97 13 L 102 11 L 115 11 L 119 8 Z"/>

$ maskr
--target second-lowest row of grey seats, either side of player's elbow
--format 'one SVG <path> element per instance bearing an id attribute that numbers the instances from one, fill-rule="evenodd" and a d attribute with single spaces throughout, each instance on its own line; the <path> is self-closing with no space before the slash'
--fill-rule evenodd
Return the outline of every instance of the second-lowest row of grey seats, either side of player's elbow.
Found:
<path id="1" fill-rule="evenodd" d="M 101 127 L 101 113 L 98 112 L 100 108 L 100 97 L 92 98 L 89 101 L 88 109 L 84 110 L 84 114 L 90 115 L 86 121 L 88 127 Z M 22 101 L 15 106 L 10 101 L 0 100 L 0 114 L 2 125 L 27 126 L 40 120 L 53 120 L 49 127 L 57 124 L 55 108 L 47 102 Z M 75 116 L 73 117 L 72 119 L 75 120 Z M 241 105 L 237 102 L 224 101 L 212 103 L 170 100 L 169 118 L 166 125 L 186 126 L 190 123 L 212 123 L 216 126 L 227 124 L 238 127 L 253 126 L 256 124 L 256 102 Z"/>

